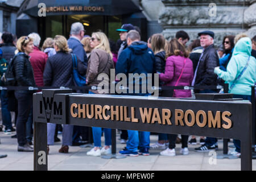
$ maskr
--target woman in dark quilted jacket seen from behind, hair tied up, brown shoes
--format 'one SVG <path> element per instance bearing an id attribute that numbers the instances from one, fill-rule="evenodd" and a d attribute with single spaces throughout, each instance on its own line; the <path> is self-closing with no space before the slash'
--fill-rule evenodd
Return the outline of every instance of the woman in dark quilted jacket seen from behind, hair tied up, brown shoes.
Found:
<path id="1" fill-rule="evenodd" d="M 75 86 L 73 82 L 73 62 L 69 52 L 67 39 L 64 36 L 56 35 L 54 38 L 54 48 L 56 54 L 48 57 L 46 68 L 44 69 L 43 79 L 45 86 Z M 86 64 L 77 57 L 77 71 L 84 76 Z M 47 144 L 54 144 L 56 124 L 47 123 Z M 63 144 L 59 150 L 61 153 L 68 153 L 68 146 L 72 145 L 73 125 L 63 126 Z M 47 147 L 49 152 L 49 147 Z"/>

